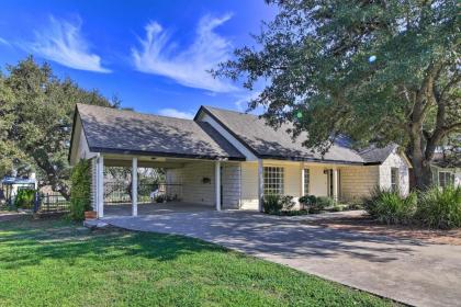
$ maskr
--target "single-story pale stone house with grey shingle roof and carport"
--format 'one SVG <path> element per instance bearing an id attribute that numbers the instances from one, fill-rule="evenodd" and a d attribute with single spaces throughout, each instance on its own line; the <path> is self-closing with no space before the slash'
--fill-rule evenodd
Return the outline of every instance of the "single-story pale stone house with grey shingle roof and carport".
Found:
<path id="1" fill-rule="evenodd" d="M 137 215 L 138 167 L 164 168 L 187 203 L 262 209 L 268 193 L 353 201 L 374 186 L 408 192 L 411 164 L 397 147 L 353 150 L 338 140 L 322 155 L 292 140 L 283 125 L 258 116 L 201 106 L 193 120 L 78 104 L 69 161 L 92 161 L 93 207 L 104 215 L 104 166 L 133 168 L 132 213 Z"/>

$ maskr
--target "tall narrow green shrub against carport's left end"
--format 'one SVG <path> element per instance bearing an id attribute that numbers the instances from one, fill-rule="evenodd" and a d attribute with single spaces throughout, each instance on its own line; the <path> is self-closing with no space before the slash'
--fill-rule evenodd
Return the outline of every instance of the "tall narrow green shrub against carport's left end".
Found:
<path id="1" fill-rule="evenodd" d="M 80 160 L 70 175 L 70 218 L 82 220 L 91 209 L 91 161 Z"/>

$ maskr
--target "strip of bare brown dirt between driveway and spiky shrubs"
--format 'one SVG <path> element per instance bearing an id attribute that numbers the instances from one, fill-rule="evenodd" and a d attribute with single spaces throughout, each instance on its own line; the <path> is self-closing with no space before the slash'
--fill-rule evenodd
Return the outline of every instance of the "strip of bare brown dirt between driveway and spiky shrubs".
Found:
<path id="1" fill-rule="evenodd" d="M 331 217 L 303 221 L 306 225 L 398 239 L 423 240 L 438 245 L 461 246 L 461 229 L 421 229 L 416 226 L 383 225 L 368 216 Z"/>

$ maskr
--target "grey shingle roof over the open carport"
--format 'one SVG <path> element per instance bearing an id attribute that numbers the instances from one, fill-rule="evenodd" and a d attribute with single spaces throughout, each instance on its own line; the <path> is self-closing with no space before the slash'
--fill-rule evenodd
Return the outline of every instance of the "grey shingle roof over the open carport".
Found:
<path id="1" fill-rule="evenodd" d="M 77 110 L 91 151 L 245 159 L 207 123 L 88 104 Z"/>

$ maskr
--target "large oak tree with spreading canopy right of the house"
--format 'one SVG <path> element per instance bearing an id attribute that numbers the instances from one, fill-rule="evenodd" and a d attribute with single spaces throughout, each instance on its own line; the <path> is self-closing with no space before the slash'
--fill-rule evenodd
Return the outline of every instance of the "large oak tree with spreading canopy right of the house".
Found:
<path id="1" fill-rule="evenodd" d="M 335 138 L 357 146 L 397 143 L 409 154 L 416 185 L 431 184 L 429 163 L 459 140 L 460 23 L 457 1 L 268 0 L 279 7 L 257 36 L 215 76 L 267 87 L 249 103 L 272 126 L 326 152 Z"/>

